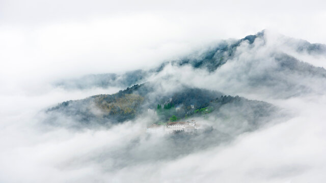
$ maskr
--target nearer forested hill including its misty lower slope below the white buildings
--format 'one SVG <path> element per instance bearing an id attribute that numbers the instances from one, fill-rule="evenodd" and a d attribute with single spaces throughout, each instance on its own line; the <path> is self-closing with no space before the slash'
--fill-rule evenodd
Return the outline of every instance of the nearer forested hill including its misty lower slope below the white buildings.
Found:
<path id="1" fill-rule="evenodd" d="M 177 85 L 171 90 L 166 87 L 160 83 L 147 82 L 112 95 L 66 101 L 48 109 L 46 113 L 50 117 L 45 121 L 51 126 L 83 130 L 112 128 L 126 121 L 137 123 L 137 119 L 147 121 L 148 125 L 163 125 L 175 115 L 176 120 L 196 119 L 202 126 L 193 135 L 177 133 L 160 136 L 159 142 L 153 141 L 145 133 L 146 129 L 143 129 L 142 135 L 121 146 L 101 152 L 94 151 L 95 161 L 101 157 L 102 163 L 113 164 L 112 170 L 115 170 L 127 166 L 125 157 L 133 160 L 128 165 L 137 165 L 148 161 L 174 160 L 215 147 L 244 132 L 257 130 L 282 115 L 279 108 L 262 101 L 226 96 L 213 90 L 187 85 Z M 146 144 L 146 148 L 141 144 Z M 110 157 L 116 158 L 112 160 Z"/>

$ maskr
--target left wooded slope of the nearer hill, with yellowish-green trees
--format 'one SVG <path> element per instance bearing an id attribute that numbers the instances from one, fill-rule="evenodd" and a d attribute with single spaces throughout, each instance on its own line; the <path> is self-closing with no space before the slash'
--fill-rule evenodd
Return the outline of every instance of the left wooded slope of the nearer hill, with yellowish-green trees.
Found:
<path id="1" fill-rule="evenodd" d="M 75 116 L 78 121 L 87 124 L 90 121 L 105 123 L 107 119 L 110 119 L 111 123 L 129 120 L 141 112 L 145 99 L 135 91 L 141 90 L 142 87 L 143 85 L 134 85 L 112 95 L 96 95 L 84 100 L 66 101 L 48 109 L 47 112 Z"/>

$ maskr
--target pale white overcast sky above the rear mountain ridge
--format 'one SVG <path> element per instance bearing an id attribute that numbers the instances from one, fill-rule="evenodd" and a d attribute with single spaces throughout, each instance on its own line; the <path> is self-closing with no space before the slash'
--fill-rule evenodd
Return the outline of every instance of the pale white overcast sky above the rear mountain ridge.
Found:
<path id="1" fill-rule="evenodd" d="M 326 43 L 325 1 L 0 2 L 2 77 L 152 67 L 220 39 L 270 29 Z"/>

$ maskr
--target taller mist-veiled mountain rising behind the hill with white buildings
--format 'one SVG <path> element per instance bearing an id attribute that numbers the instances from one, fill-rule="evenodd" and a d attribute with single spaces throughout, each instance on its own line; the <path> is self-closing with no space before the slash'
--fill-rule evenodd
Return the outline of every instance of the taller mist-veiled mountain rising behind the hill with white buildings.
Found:
<path id="1" fill-rule="evenodd" d="M 169 79 L 173 77 L 165 74 L 169 67 L 173 67 L 175 72 L 182 72 L 182 68 L 190 66 L 194 73 L 197 70 L 208 71 L 210 75 L 216 77 L 237 80 L 239 83 L 232 86 L 232 91 L 250 86 L 257 91 L 261 90 L 260 93 L 281 98 L 311 92 L 320 93 L 326 88 L 316 87 L 316 85 L 325 78 L 326 70 L 305 62 L 306 60 L 302 60 L 305 58 L 303 55 L 326 58 L 326 45 L 311 44 L 282 35 L 275 38 L 267 31 L 262 31 L 239 40 L 220 41 L 190 55 L 162 63 L 151 70 L 87 75 L 56 82 L 55 85 L 66 89 L 112 86 L 126 88 L 147 82 L 152 77 Z M 274 88 L 281 92 L 277 92 Z M 216 88 L 216 90 L 225 89 Z"/>

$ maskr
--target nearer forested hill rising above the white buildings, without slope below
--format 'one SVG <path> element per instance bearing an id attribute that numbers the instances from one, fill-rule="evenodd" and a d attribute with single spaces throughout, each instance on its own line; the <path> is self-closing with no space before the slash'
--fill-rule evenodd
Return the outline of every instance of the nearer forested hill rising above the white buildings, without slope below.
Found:
<path id="1" fill-rule="evenodd" d="M 244 111 L 239 112 L 239 115 L 257 125 L 260 117 L 263 117 L 260 114 L 268 116 L 276 111 L 276 107 L 265 102 L 225 96 L 207 89 L 181 85 L 178 90 L 172 92 L 161 91 L 156 84 L 144 83 L 112 95 L 96 95 L 83 100 L 66 101 L 48 109 L 47 113 L 49 116 L 74 118 L 77 122 L 71 126 L 73 128 L 93 128 L 110 127 L 151 113 L 157 114 L 157 118 L 153 118 L 151 123 L 166 123 L 173 115 L 180 120 L 189 117 L 223 116 L 226 114 L 223 114 L 220 108 L 233 105 L 246 106 L 246 112 L 251 111 L 250 113 L 255 115 L 247 115 Z M 56 124 L 56 121 L 60 120 L 49 118 L 47 121 Z"/>

